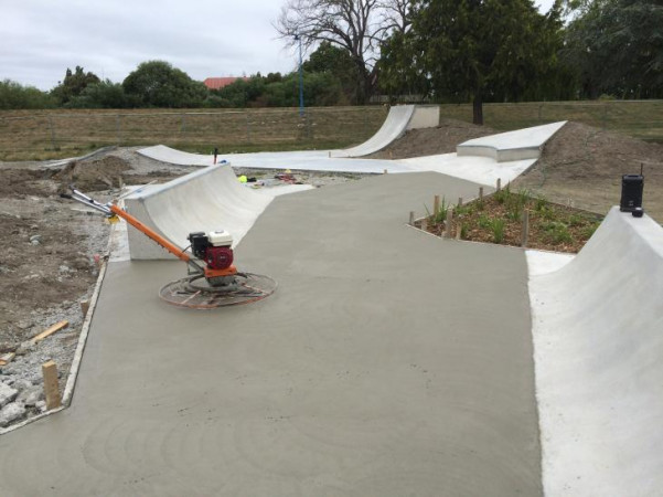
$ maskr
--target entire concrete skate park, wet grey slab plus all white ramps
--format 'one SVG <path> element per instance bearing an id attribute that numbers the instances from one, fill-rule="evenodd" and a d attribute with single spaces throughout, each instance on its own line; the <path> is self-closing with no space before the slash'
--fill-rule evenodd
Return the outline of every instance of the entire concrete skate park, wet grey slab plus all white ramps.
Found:
<path id="1" fill-rule="evenodd" d="M 564 126 L 361 158 L 427 113 L 349 150 L 142 150 L 203 168 L 127 210 L 181 247 L 227 228 L 278 289 L 169 306 L 184 264 L 117 225 L 71 403 L 0 436 L 0 494 L 659 495 L 661 226 L 613 209 L 573 260 L 416 230 L 409 211 L 513 180 Z M 374 175 L 263 194 L 233 166 Z"/>

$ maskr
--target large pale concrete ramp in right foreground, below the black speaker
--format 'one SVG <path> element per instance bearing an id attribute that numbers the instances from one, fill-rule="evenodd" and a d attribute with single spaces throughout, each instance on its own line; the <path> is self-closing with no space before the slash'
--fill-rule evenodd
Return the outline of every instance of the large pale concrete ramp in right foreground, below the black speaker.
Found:
<path id="1" fill-rule="evenodd" d="M 661 495 L 663 229 L 613 208 L 530 295 L 546 495 Z"/>

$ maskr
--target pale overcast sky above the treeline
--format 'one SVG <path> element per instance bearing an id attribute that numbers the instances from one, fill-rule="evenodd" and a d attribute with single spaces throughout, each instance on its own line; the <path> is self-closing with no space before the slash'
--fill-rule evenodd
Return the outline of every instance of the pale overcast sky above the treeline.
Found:
<path id="1" fill-rule="evenodd" d="M 51 89 L 81 65 L 120 83 L 145 61 L 192 78 L 297 67 L 271 27 L 285 0 L 0 0 L 0 80 Z M 543 11 L 553 0 L 535 0 Z"/>

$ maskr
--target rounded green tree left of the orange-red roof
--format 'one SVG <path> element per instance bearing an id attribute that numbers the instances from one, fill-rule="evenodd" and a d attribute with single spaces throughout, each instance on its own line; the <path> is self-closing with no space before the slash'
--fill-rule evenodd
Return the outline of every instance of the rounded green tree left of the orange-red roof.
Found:
<path id="1" fill-rule="evenodd" d="M 122 87 L 135 105 L 146 107 L 200 107 L 207 96 L 203 83 L 164 61 L 142 62 Z"/>

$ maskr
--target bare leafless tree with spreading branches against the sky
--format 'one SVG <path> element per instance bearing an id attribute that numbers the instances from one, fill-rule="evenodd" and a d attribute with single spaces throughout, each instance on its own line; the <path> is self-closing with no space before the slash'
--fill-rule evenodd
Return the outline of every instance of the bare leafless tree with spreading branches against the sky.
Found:
<path id="1" fill-rule="evenodd" d="M 371 93 L 379 42 L 407 28 L 408 0 L 287 0 L 275 24 L 288 45 L 295 35 L 310 47 L 319 42 L 345 50 L 355 66 L 355 94 L 364 104 Z"/>

